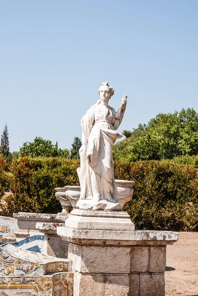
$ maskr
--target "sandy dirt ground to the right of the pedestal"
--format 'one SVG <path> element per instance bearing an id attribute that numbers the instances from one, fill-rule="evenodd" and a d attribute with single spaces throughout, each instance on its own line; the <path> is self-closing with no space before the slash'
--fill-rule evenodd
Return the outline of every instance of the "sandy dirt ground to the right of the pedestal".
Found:
<path id="1" fill-rule="evenodd" d="M 198 296 L 198 232 L 179 232 L 167 246 L 165 296 Z"/>

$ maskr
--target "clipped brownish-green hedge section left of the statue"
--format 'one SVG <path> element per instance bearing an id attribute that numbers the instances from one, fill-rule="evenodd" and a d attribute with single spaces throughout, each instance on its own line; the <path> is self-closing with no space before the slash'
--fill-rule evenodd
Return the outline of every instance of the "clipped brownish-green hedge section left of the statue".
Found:
<path id="1" fill-rule="evenodd" d="M 78 184 L 79 161 L 65 158 L 15 158 L 10 166 L 12 195 L 3 207 L 6 216 L 17 212 L 57 213 L 55 187 Z"/>

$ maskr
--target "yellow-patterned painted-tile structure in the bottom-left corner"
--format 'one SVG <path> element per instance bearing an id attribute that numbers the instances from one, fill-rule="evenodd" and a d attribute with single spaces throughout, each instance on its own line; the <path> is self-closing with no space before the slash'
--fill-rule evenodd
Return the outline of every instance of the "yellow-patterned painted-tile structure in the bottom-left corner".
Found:
<path id="1" fill-rule="evenodd" d="M 0 246 L 0 296 L 72 296 L 72 261 Z"/>

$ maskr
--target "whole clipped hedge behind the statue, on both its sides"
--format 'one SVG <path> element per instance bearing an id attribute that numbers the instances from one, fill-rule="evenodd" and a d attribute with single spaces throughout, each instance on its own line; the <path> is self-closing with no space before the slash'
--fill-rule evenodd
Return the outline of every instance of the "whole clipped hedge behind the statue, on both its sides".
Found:
<path id="1" fill-rule="evenodd" d="M 6 172 L 11 176 L 13 194 L 7 198 L 5 215 L 19 211 L 60 212 L 54 188 L 79 185 L 78 167 L 79 160 L 64 158 L 14 159 L 10 172 Z M 115 161 L 115 177 L 136 182 L 133 198 L 123 210 L 137 228 L 198 230 L 198 169 L 194 166 L 172 160 Z"/>

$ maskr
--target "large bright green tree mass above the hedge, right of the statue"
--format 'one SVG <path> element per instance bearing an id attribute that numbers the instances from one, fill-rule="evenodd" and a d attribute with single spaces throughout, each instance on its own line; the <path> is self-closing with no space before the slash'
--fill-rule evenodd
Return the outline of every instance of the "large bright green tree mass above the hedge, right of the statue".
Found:
<path id="1" fill-rule="evenodd" d="M 147 125 L 139 124 L 129 138 L 113 149 L 114 159 L 129 161 L 195 154 L 198 154 L 198 113 L 190 108 L 173 114 L 159 113 Z"/>

